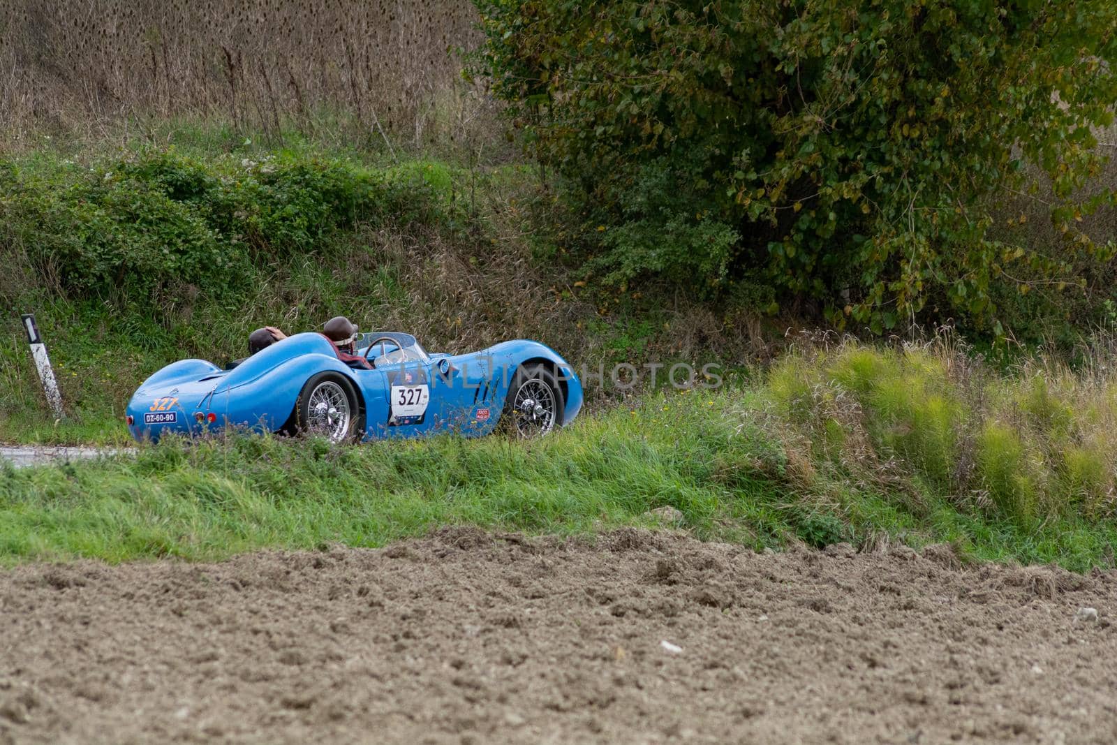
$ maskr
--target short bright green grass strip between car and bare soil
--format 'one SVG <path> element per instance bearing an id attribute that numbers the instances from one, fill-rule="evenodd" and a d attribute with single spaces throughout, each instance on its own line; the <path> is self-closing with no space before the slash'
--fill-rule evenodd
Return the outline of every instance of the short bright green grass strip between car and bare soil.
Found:
<path id="1" fill-rule="evenodd" d="M 815 460 L 773 423 L 766 390 L 657 394 L 537 442 L 230 437 L 135 457 L 0 470 L 0 562 L 220 558 L 256 548 L 380 546 L 447 524 L 528 534 L 655 527 L 679 509 L 704 539 L 762 548 L 881 538 L 951 542 L 975 558 L 1113 564 L 1117 524 L 1037 520 L 961 505 L 908 481 L 882 488 Z"/>

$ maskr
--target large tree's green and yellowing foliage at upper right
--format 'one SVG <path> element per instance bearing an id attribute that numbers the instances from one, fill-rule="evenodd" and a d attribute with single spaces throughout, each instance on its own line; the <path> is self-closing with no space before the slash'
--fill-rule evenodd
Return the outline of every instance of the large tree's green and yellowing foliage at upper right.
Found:
<path id="1" fill-rule="evenodd" d="M 1117 101 L 1108 0 L 476 0 L 479 71 L 603 231 L 594 269 L 725 293 L 762 273 L 880 332 L 991 287 L 1076 286 Z M 1040 255 L 991 236 L 1050 194 Z"/>

